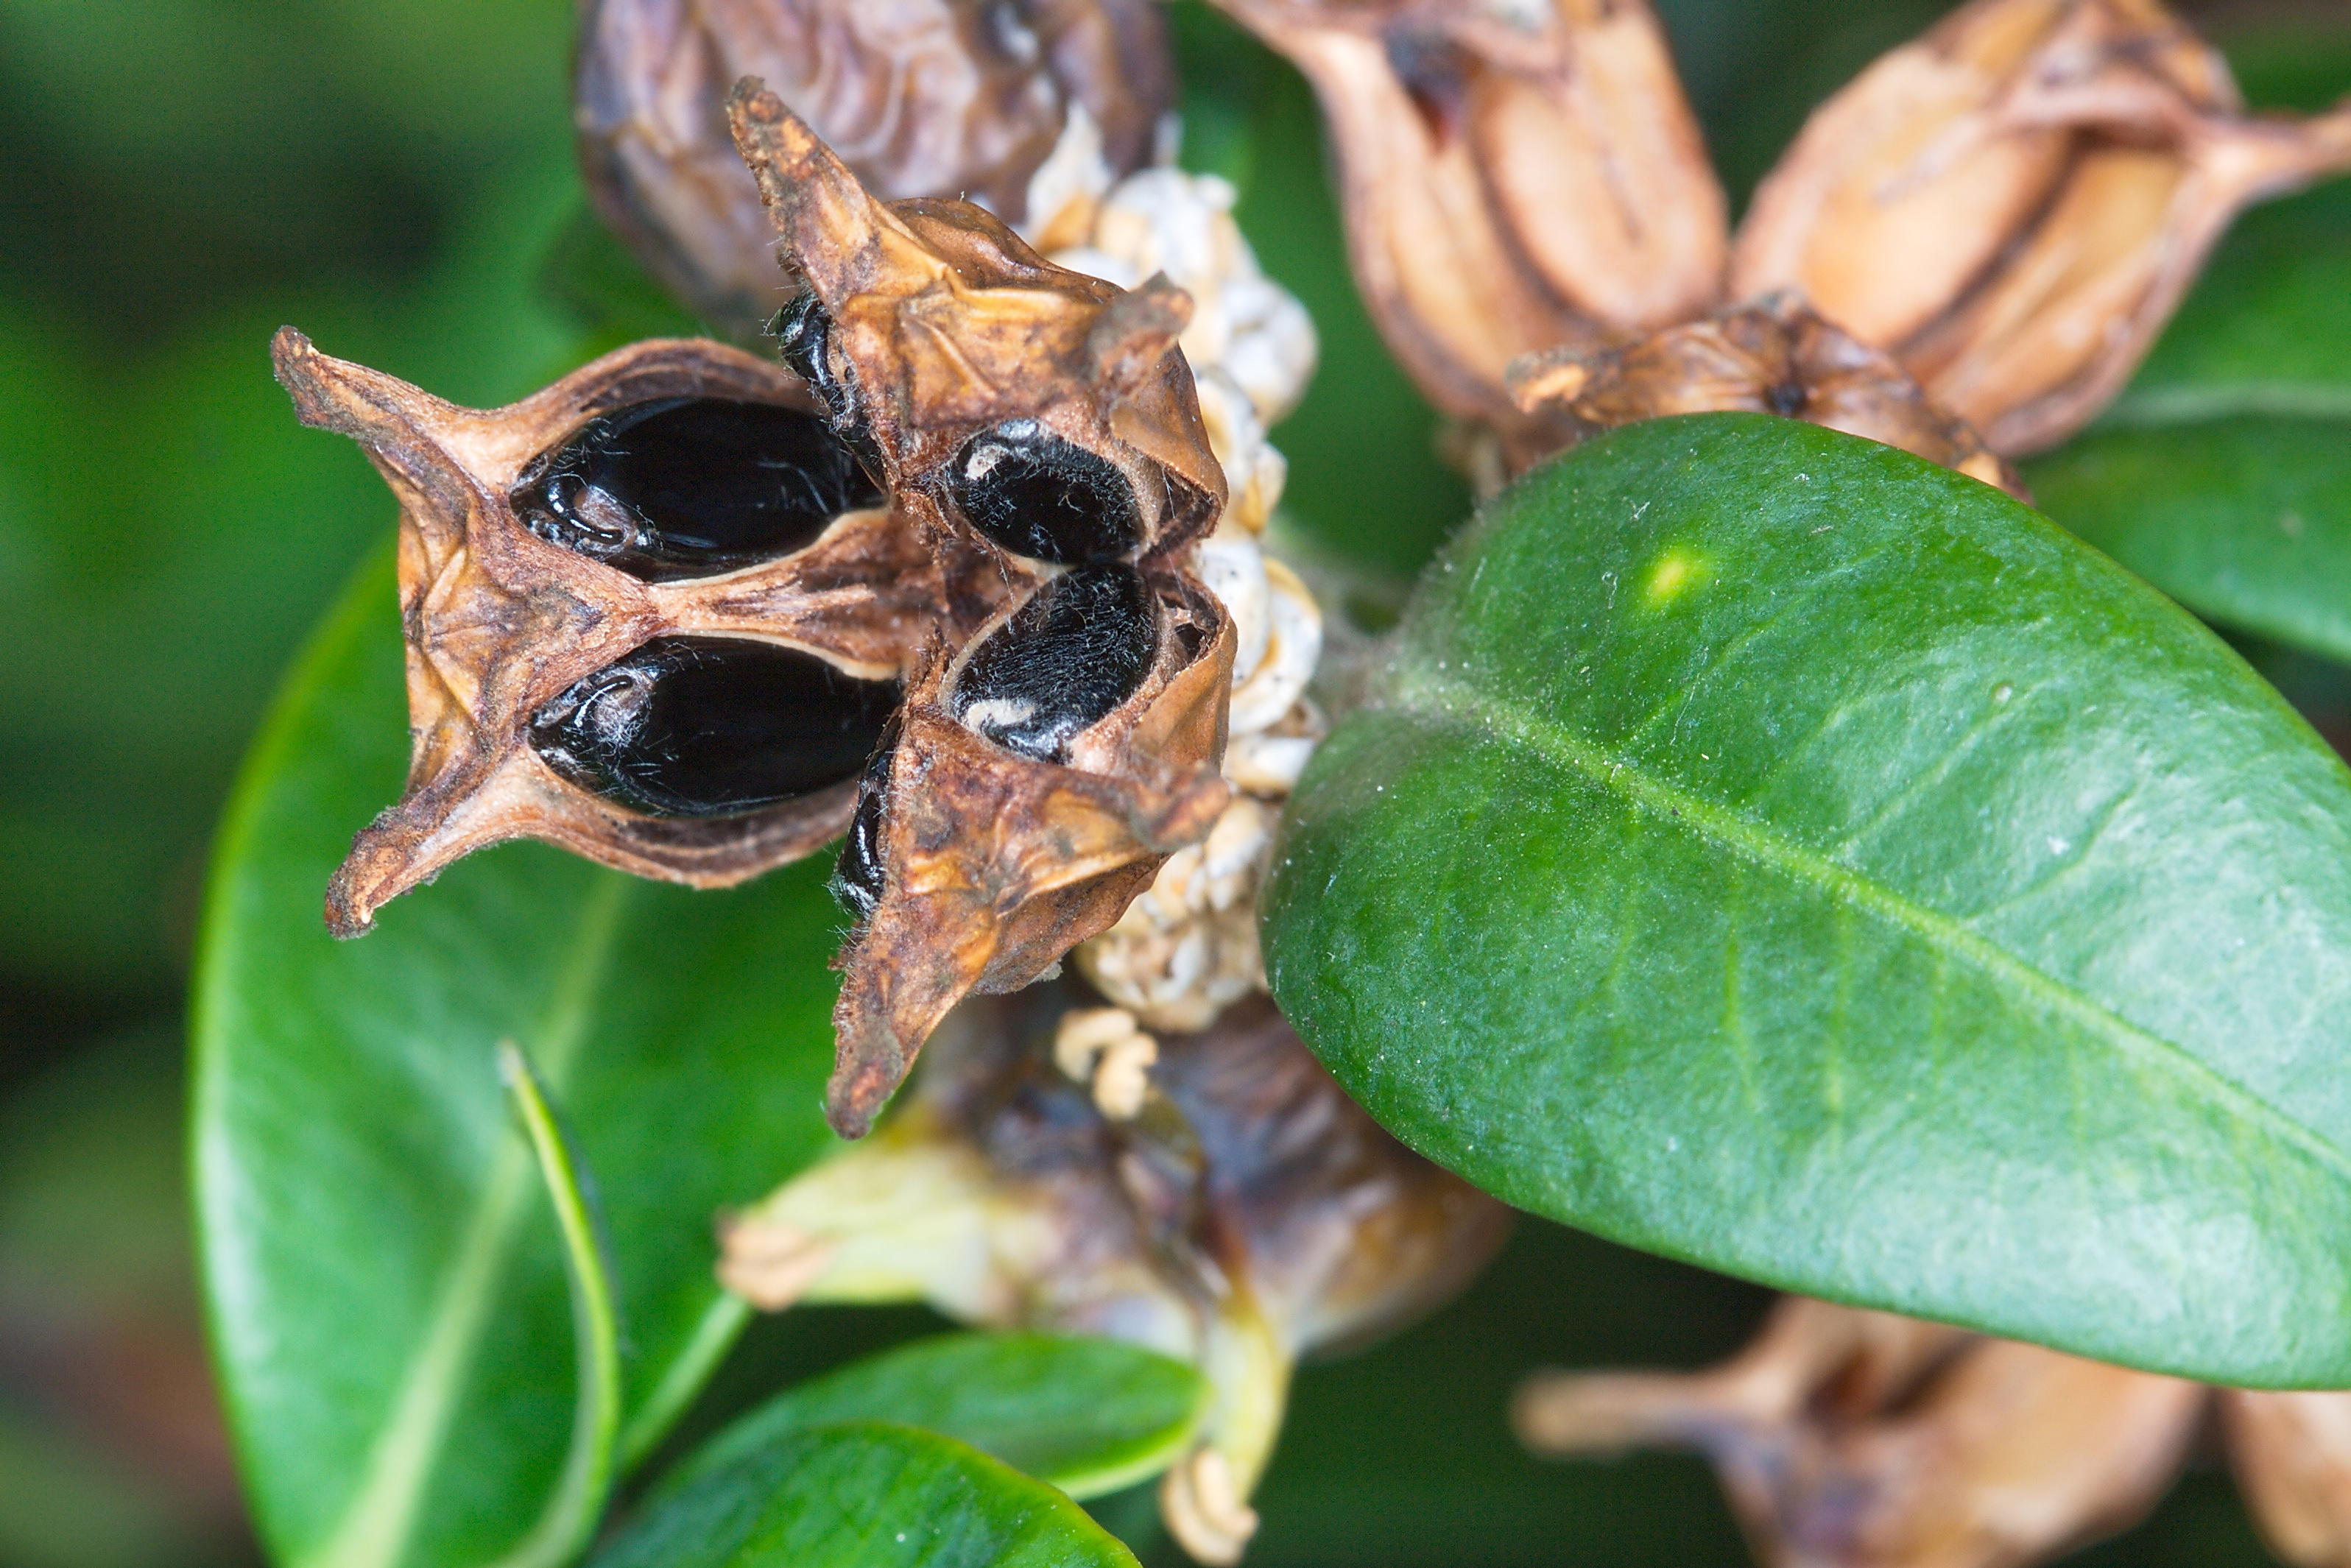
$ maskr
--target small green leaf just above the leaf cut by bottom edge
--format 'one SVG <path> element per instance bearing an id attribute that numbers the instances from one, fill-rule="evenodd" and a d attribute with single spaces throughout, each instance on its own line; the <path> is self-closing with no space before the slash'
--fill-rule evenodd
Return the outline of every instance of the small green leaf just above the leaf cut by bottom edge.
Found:
<path id="1" fill-rule="evenodd" d="M 891 1420 L 971 1443 L 1072 1497 L 1098 1497 L 1173 1465 L 1206 1399 L 1197 1371 L 1136 1345 L 952 1333 L 778 1394 L 710 1439 L 663 1488 L 689 1486 L 785 1432 Z"/>

